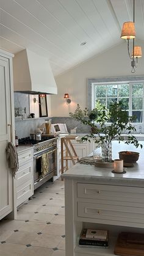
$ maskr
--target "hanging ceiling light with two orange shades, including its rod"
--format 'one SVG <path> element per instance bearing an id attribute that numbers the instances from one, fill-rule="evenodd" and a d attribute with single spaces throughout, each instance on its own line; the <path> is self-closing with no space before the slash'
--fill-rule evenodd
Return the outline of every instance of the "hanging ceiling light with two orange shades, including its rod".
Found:
<path id="1" fill-rule="evenodd" d="M 121 31 L 121 38 L 122 39 L 127 39 L 128 41 L 128 54 L 131 61 L 131 66 L 132 66 L 132 70 L 131 72 L 134 73 L 135 72 L 135 67 L 137 67 L 137 60 L 138 58 L 142 57 L 142 48 L 140 46 L 135 46 L 135 24 L 134 24 L 134 19 L 135 19 L 135 0 L 134 0 L 134 13 L 133 13 L 133 22 L 132 21 L 128 21 L 128 22 L 124 22 L 123 23 L 123 28 Z M 132 54 L 129 53 L 129 39 L 132 39 Z M 136 60 L 134 59 L 136 58 Z"/>

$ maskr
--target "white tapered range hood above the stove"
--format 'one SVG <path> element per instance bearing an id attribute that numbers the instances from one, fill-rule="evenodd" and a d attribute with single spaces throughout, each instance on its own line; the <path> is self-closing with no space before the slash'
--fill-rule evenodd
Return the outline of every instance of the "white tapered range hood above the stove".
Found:
<path id="1" fill-rule="evenodd" d="M 14 91 L 23 93 L 57 94 L 57 85 L 48 59 L 29 49 L 13 58 Z"/>

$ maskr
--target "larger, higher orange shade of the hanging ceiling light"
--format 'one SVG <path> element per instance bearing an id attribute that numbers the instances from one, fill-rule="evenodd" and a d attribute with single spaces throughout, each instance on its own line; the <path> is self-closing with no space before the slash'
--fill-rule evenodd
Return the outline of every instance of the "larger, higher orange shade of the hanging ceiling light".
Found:
<path id="1" fill-rule="evenodd" d="M 122 31 L 121 31 L 122 39 L 133 39 L 135 38 L 135 26 L 134 22 L 128 21 L 123 23 Z"/>

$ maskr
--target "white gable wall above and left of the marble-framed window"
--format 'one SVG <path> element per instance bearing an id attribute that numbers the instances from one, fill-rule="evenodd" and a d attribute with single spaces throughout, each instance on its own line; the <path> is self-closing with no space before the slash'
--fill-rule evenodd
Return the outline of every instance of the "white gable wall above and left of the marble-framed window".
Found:
<path id="1" fill-rule="evenodd" d="M 144 53 L 144 43 L 139 42 Z M 87 106 L 87 78 L 108 78 L 113 76 L 139 76 L 144 75 L 144 57 L 134 75 L 131 73 L 131 60 L 128 56 L 126 42 L 109 49 L 99 56 L 84 62 L 81 65 L 59 75 L 55 78 L 58 94 L 51 96 L 51 115 L 53 117 L 68 117 L 76 104 L 82 108 Z M 63 99 L 64 93 L 69 93 L 71 104 L 67 105 Z"/>

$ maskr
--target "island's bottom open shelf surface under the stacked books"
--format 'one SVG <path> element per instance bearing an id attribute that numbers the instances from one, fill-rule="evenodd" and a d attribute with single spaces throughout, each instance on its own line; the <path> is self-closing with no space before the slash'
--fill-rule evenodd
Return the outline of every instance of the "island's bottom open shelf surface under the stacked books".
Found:
<path id="1" fill-rule="evenodd" d="M 90 255 L 98 255 L 98 256 L 113 256 L 114 255 L 114 247 L 117 242 L 117 236 L 111 236 L 109 238 L 109 248 L 107 249 L 99 249 L 99 248 L 87 248 L 87 247 L 79 247 L 76 246 L 74 252 L 76 256 L 90 256 Z"/>

